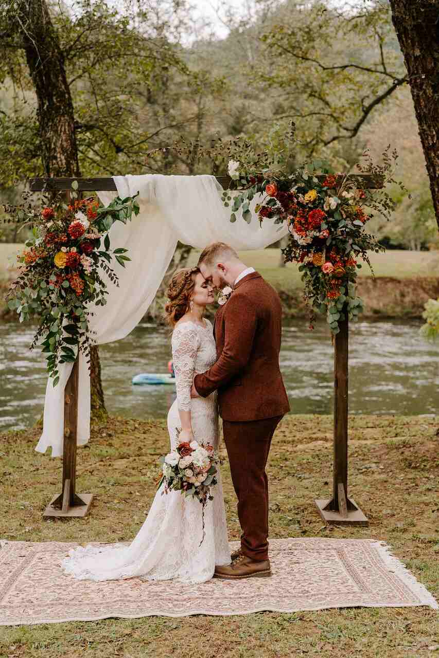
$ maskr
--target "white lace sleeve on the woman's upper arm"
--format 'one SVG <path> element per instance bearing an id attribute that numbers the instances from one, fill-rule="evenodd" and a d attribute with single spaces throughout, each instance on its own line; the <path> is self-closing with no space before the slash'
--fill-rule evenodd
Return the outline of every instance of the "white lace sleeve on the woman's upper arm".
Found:
<path id="1" fill-rule="evenodd" d="M 194 325 L 182 322 L 172 334 L 172 359 L 175 370 L 177 405 L 190 411 L 190 387 L 194 377 L 195 357 L 200 338 Z"/>

